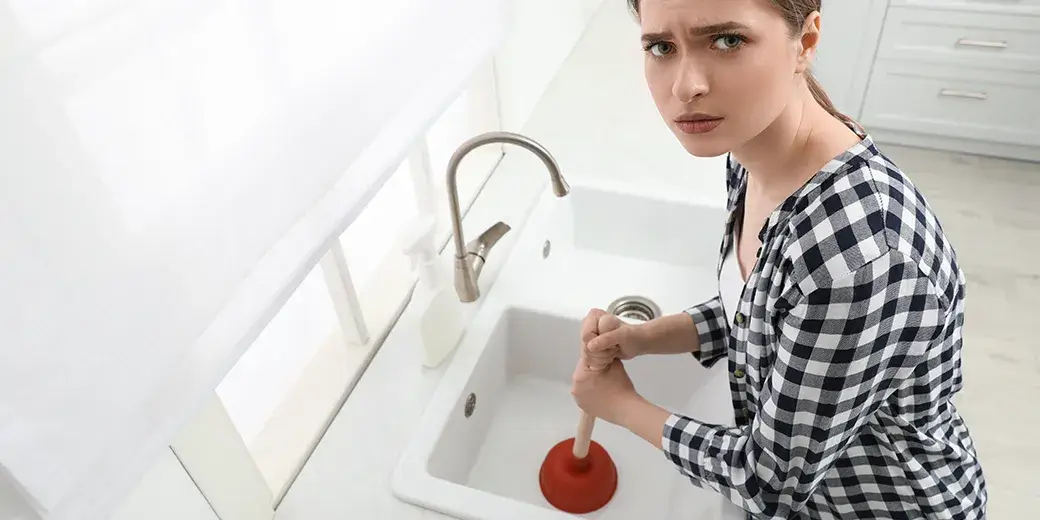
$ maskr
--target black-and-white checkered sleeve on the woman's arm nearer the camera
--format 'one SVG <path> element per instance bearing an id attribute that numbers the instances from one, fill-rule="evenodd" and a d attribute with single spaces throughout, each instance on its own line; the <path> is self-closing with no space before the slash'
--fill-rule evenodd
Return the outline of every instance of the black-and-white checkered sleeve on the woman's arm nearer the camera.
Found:
<path id="1" fill-rule="evenodd" d="M 664 451 L 684 474 L 756 518 L 803 511 L 853 437 L 944 330 L 934 285 L 894 251 L 799 294 L 776 316 L 776 361 L 746 426 L 673 414 L 662 430 Z M 713 354 L 719 341 L 706 324 L 713 320 L 701 323 Z"/>

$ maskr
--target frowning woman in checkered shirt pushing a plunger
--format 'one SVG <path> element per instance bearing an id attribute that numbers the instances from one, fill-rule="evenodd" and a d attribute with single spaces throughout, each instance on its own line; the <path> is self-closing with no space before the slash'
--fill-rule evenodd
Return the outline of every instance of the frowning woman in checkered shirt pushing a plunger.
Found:
<path id="1" fill-rule="evenodd" d="M 578 406 L 754 518 L 985 517 L 961 388 L 964 282 L 911 181 L 809 64 L 821 0 L 630 0 L 646 78 L 695 156 L 729 154 L 720 294 L 581 331 Z M 735 427 L 643 399 L 622 361 L 729 368 Z M 605 367 L 597 370 L 595 367 Z"/>

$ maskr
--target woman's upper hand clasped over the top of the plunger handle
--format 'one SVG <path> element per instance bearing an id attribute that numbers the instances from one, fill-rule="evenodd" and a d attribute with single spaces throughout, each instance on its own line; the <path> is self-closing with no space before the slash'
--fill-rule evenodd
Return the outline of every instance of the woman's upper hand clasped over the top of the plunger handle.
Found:
<path id="1" fill-rule="evenodd" d="M 609 366 L 646 354 L 644 323 L 626 323 L 602 309 L 592 309 L 581 322 L 582 354 L 592 367 Z"/>

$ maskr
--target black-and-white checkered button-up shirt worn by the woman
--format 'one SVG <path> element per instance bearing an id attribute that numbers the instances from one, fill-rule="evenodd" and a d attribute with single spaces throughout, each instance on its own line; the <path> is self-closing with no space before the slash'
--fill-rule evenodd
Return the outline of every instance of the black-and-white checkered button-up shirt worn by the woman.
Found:
<path id="1" fill-rule="evenodd" d="M 672 414 L 670 461 L 750 518 L 982 519 L 987 491 L 951 398 L 964 279 L 925 198 L 868 135 L 761 228 L 733 322 L 687 309 L 723 357 L 735 426 Z M 727 161 L 731 236 L 747 171 Z"/>

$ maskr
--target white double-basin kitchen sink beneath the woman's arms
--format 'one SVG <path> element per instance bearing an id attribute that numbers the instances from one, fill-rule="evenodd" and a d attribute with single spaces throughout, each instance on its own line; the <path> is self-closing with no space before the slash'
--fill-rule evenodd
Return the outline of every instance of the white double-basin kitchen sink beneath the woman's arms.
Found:
<path id="1" fill-rule="evenodd" d="M 569 383 L 580 320 L 624 295 L 647 297 L 664 314 L 710 297 L 724 217 L 722 208 L 580 186 L 565 199 L 546 193 L 509 258 L 492 252 L 490 262 L 506 263 L 405 447 L 394 493 L 462 519 L 574 518 L 542 497 L 538 471 L 577 426 Z M 626 367 L 651 401 L 732 424 L 724 365 L 651 356 Z M 743 518 L 631 433 L 598 421 L 593 439 L 614 459 L 619 484 L 610 503 L 583 518 Z"/>

